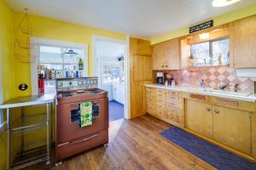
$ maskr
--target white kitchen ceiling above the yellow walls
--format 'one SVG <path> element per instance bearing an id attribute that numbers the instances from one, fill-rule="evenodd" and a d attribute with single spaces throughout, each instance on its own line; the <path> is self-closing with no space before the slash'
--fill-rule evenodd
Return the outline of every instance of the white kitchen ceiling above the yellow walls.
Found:
<path id="1" fill-rule="evenodd" d="M 256 3 L 214 8 L 212 0 L 6 0 L 17 11 L 150 38 Z"/>

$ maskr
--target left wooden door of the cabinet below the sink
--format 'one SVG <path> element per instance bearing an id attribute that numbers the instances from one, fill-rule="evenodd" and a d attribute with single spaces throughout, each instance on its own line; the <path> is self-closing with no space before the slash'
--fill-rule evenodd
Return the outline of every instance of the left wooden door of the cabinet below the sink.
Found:
<path id="1" fill-rule="evenodd" d="M 185 126 L 212 138 L 212 105 L 188 99 Z"/>

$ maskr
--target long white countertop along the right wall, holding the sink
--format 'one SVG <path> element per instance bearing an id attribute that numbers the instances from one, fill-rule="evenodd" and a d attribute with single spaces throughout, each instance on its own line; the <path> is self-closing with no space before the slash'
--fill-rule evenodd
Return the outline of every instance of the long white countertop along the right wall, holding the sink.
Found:
<path id="1" fill-rule="evenodd" d="M 217 90 L 213 88 L 198 88 L 198 87 L 181 87 L 176 86 L 172 88 L 171 86 L 165 86 L 160 84 L 147 84 L 145 85 L 148 88 L 161 88 L 161 89 L 168 89 L 173 90 L 177 92 L 185 92 L 185 93 L 192 93 L 192 94 L 205 94 L 215 97 L 221 97 L 226 99 L 238 99 L 243 101 L 249 101 L 249 102 L 256 102 L 256 94 L 253 92 L 232 92 L 227 90 Z"/>

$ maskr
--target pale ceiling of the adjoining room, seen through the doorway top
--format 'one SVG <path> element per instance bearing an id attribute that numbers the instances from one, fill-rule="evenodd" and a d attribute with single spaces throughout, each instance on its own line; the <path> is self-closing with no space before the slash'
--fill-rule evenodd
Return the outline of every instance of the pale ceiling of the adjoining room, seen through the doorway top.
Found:
<path id="1" fill-rule="evenodd" d="M 103 58 L 118 58 L 125 53 L 125 45 L 96 41 L 96 55 Z"/>

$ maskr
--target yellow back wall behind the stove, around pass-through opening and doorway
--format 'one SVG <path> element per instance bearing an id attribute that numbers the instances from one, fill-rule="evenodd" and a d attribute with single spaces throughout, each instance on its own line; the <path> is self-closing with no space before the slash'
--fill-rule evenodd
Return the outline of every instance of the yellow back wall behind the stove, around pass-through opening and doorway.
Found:
<path id="1" fill-rule="evenodd" d="M 19 24 L 23 14 L 14 13 L 14 27 Z M 102 31 L 99 29 L 94 29 L 85 26 L 73 25 L 67 22 L 62 22 L 60 20 L 51 20 L 48 18 L 29 15 L 29 19 L 32 23 L 32 28 L 34 30 L 33 37 L 49 38 L 60 41 L 67 42 L 81 42 L 89 44 L 89 75 L 91 73 L 91 54 L 92 54 L 92 35 L 100 35 L 104 37 L 113 37 L 125 40 L 125 35 L 113 33 L 110 31 Z M 27 83 L 30 85 L 30 64 L 20 63 L 19 59 L 15 57 L 15 87 L 20 83 Z M 16 94 L 18 96 L 31 94 L 31 88 L 29 86 L 28 90 L 21 92 L 16 88 Z"/>

